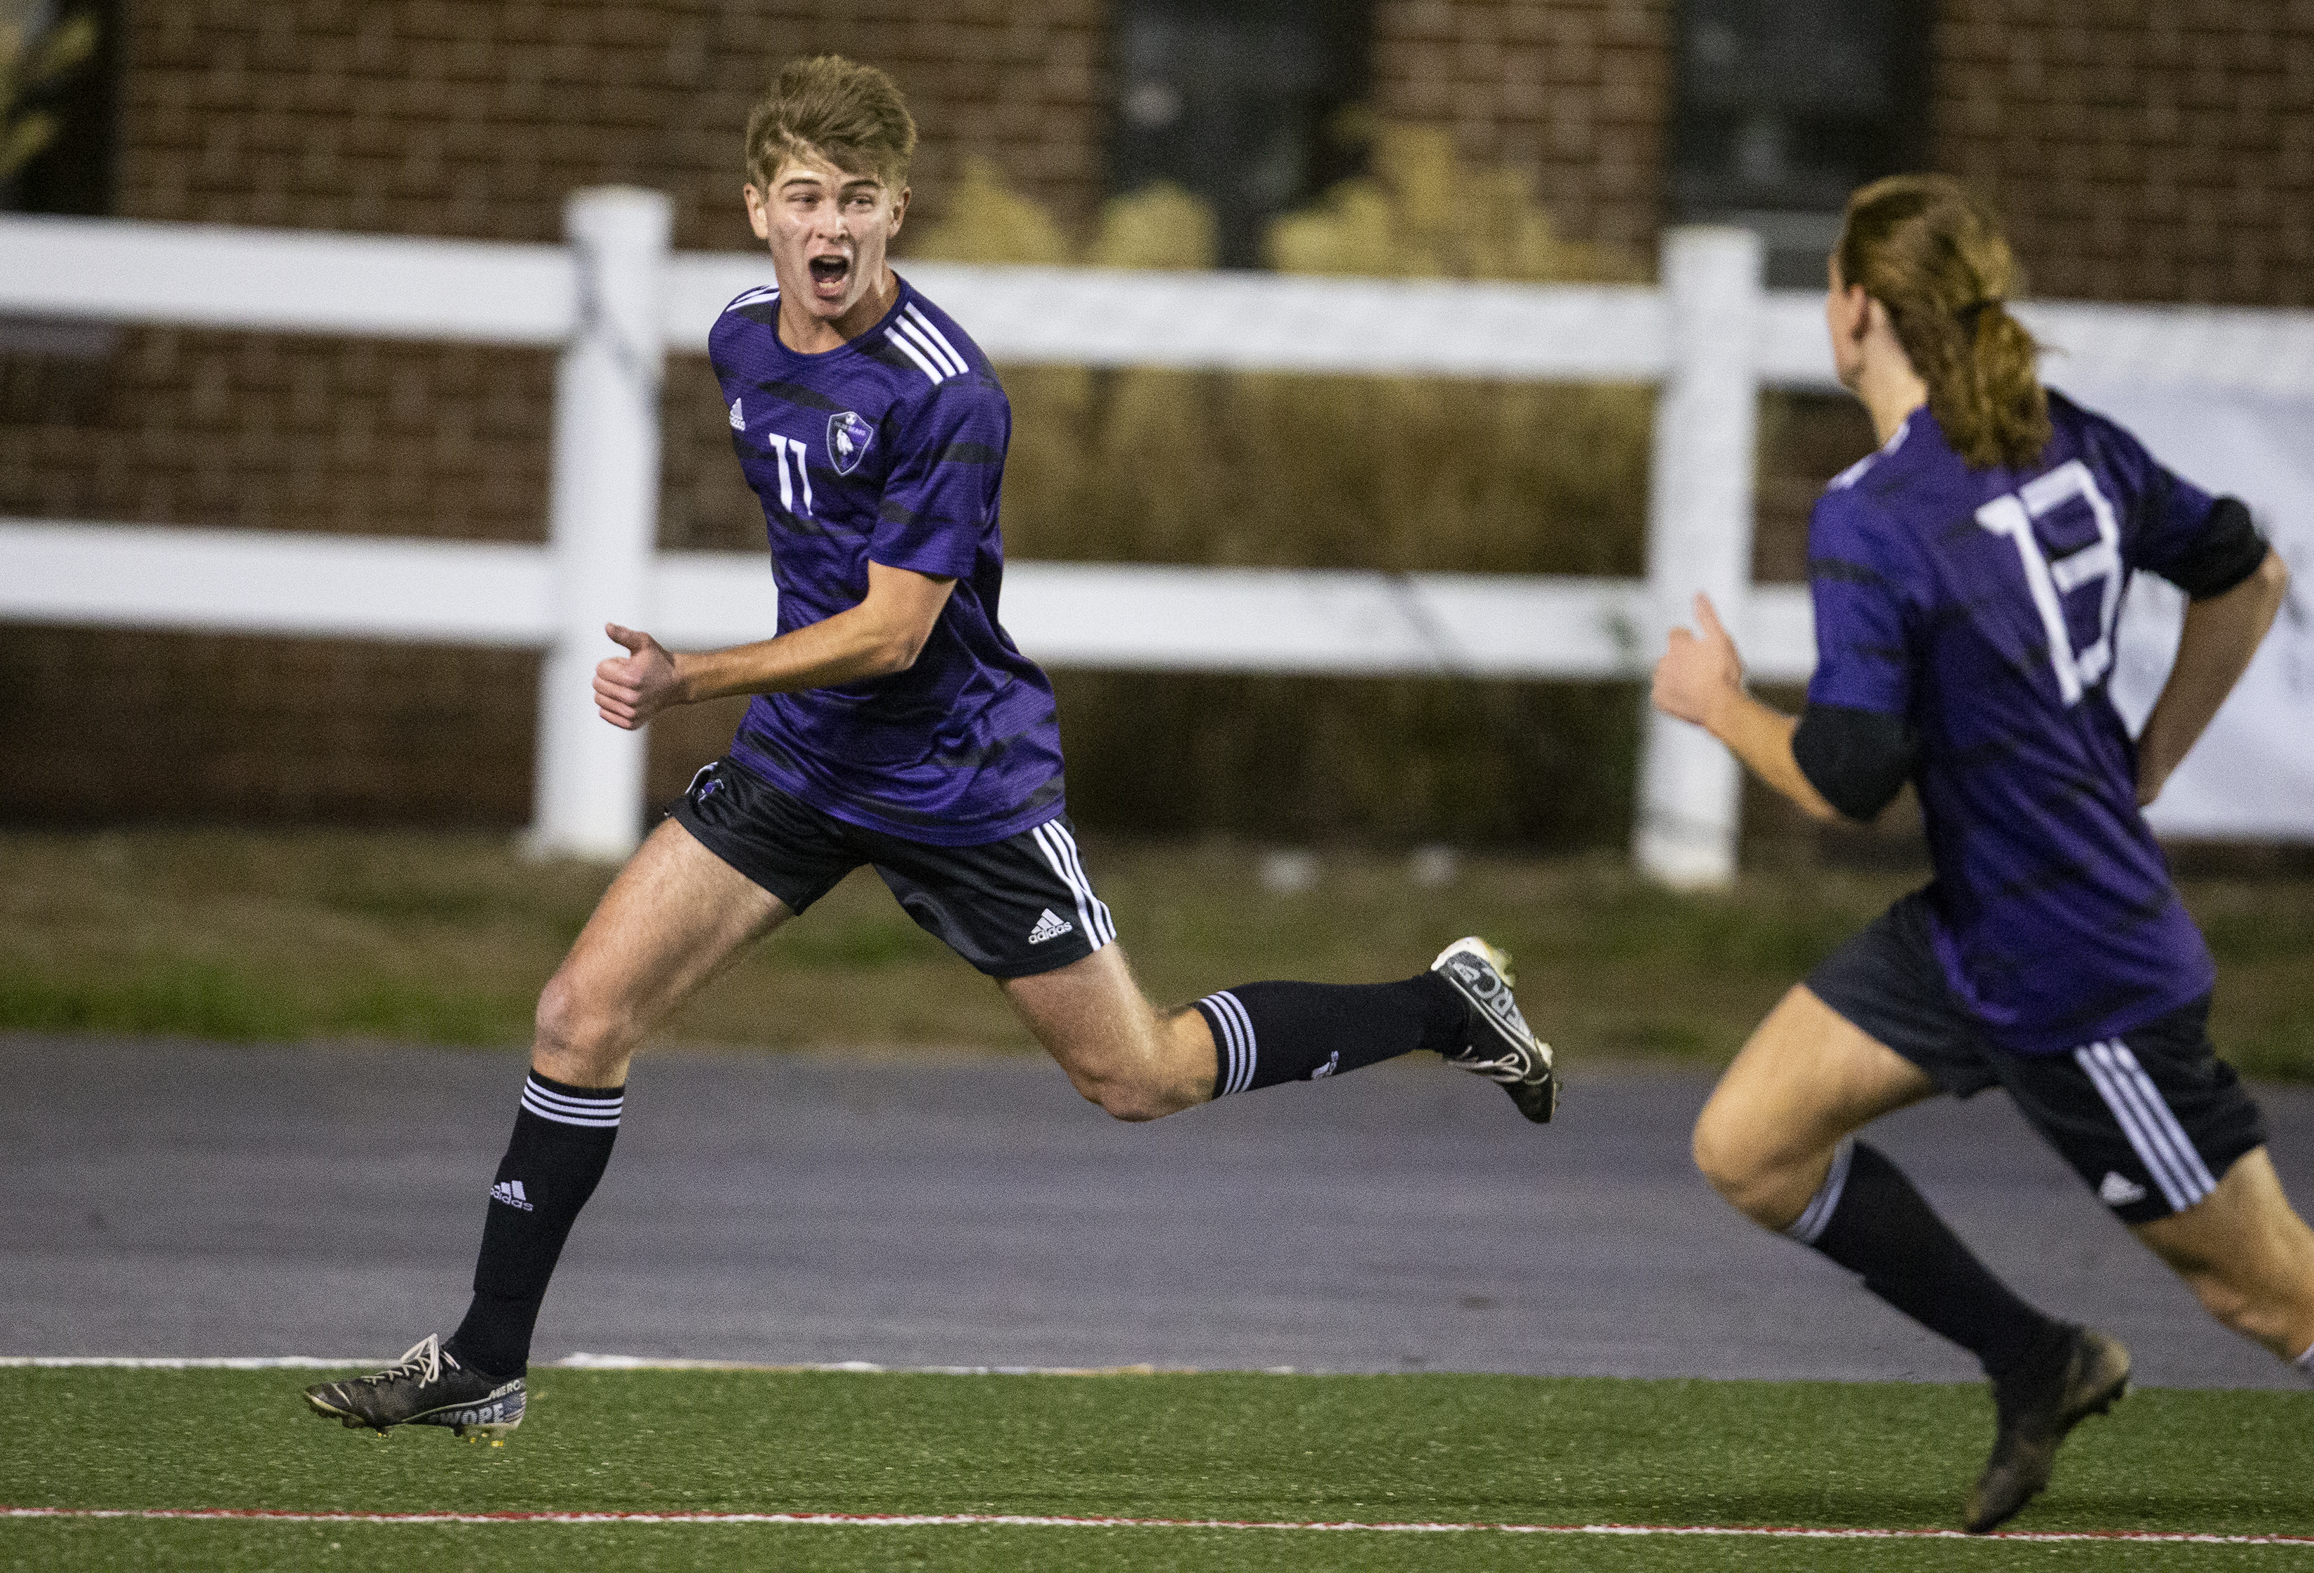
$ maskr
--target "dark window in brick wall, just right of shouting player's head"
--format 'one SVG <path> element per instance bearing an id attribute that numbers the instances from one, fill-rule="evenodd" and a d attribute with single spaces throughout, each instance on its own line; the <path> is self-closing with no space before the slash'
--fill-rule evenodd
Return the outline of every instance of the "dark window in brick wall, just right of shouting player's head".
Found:
<path id="1" fill-rule="evenodd" d="M 1372 0 L 1118 0 L 1111 187 L 1171 180 L 1213 204 L 1224 268 L 1268 222 L 1354 173 Z"/>

